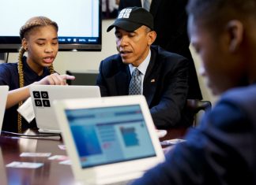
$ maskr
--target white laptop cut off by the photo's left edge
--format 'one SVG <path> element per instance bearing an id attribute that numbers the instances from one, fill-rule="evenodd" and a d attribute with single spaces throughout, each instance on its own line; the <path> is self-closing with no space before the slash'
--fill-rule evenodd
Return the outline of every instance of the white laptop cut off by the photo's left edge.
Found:
<path id="1" fill-rule="evenodd" d="M 2 121 L 6 111 L 6 100 L 9 86 L 0 86 L 0 133 L 2 131 Z"/>

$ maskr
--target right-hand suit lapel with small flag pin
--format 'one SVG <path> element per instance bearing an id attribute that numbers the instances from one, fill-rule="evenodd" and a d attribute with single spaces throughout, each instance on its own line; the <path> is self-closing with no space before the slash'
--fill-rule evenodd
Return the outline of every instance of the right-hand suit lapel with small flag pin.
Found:
<path id="1" fill-rule="evenodd" d="M 151 50 L 151 58 L 149 61 L 149 66 L 145 73 L 145 78 L 143 82 L 143 94 L 148 102 L 148 105 L 151 104 L 152 98 L 156 92 L 156 80 L 158 79 L 158 75 L 156 72 L 156 51 Z"/>

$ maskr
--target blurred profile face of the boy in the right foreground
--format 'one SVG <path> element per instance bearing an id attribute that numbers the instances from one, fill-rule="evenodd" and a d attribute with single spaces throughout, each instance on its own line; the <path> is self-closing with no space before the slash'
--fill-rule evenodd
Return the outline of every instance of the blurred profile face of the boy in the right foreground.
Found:
<path id="1" fill-rule="evenodd" d="M 228 31 L 213 31 L 189 17 L 191 44 L 201 57 L 201 76 L 206 78 L 213 94 L 241 85 L 244 77 L 243 60 L 230 50 L 232 36 Z"/>

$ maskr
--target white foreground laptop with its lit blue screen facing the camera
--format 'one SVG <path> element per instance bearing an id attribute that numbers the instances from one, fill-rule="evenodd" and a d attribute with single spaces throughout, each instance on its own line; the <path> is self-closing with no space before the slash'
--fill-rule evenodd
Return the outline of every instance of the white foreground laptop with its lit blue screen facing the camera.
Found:
<path id="1" fill-rule="evenodd" d="M 70 99 L 54 106 L 75 179 L 119 183 L 164 161 L 143 95 Z"/>

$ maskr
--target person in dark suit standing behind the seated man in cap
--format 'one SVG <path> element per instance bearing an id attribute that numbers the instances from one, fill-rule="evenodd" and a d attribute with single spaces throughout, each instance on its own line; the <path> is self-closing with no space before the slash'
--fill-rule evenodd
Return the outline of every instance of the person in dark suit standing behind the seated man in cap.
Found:
<path id="1" fill-rule="evenodd" d="M 145 0 L 142 0 L 144 2 Z M 201 90 L 194 61 L 190 53 L 190 40 L 186 31 L 187 0 L 151 0 L 150 13 L 154 17 L 154 28 L 157 34 L 154 45 L 159 45 L 170 52 L 186 57 L 189 62 L 188 98 L 201 99 Z M 120 0 L 119 10 L 130 7 L 141 7 L 141 0 Z"/>

